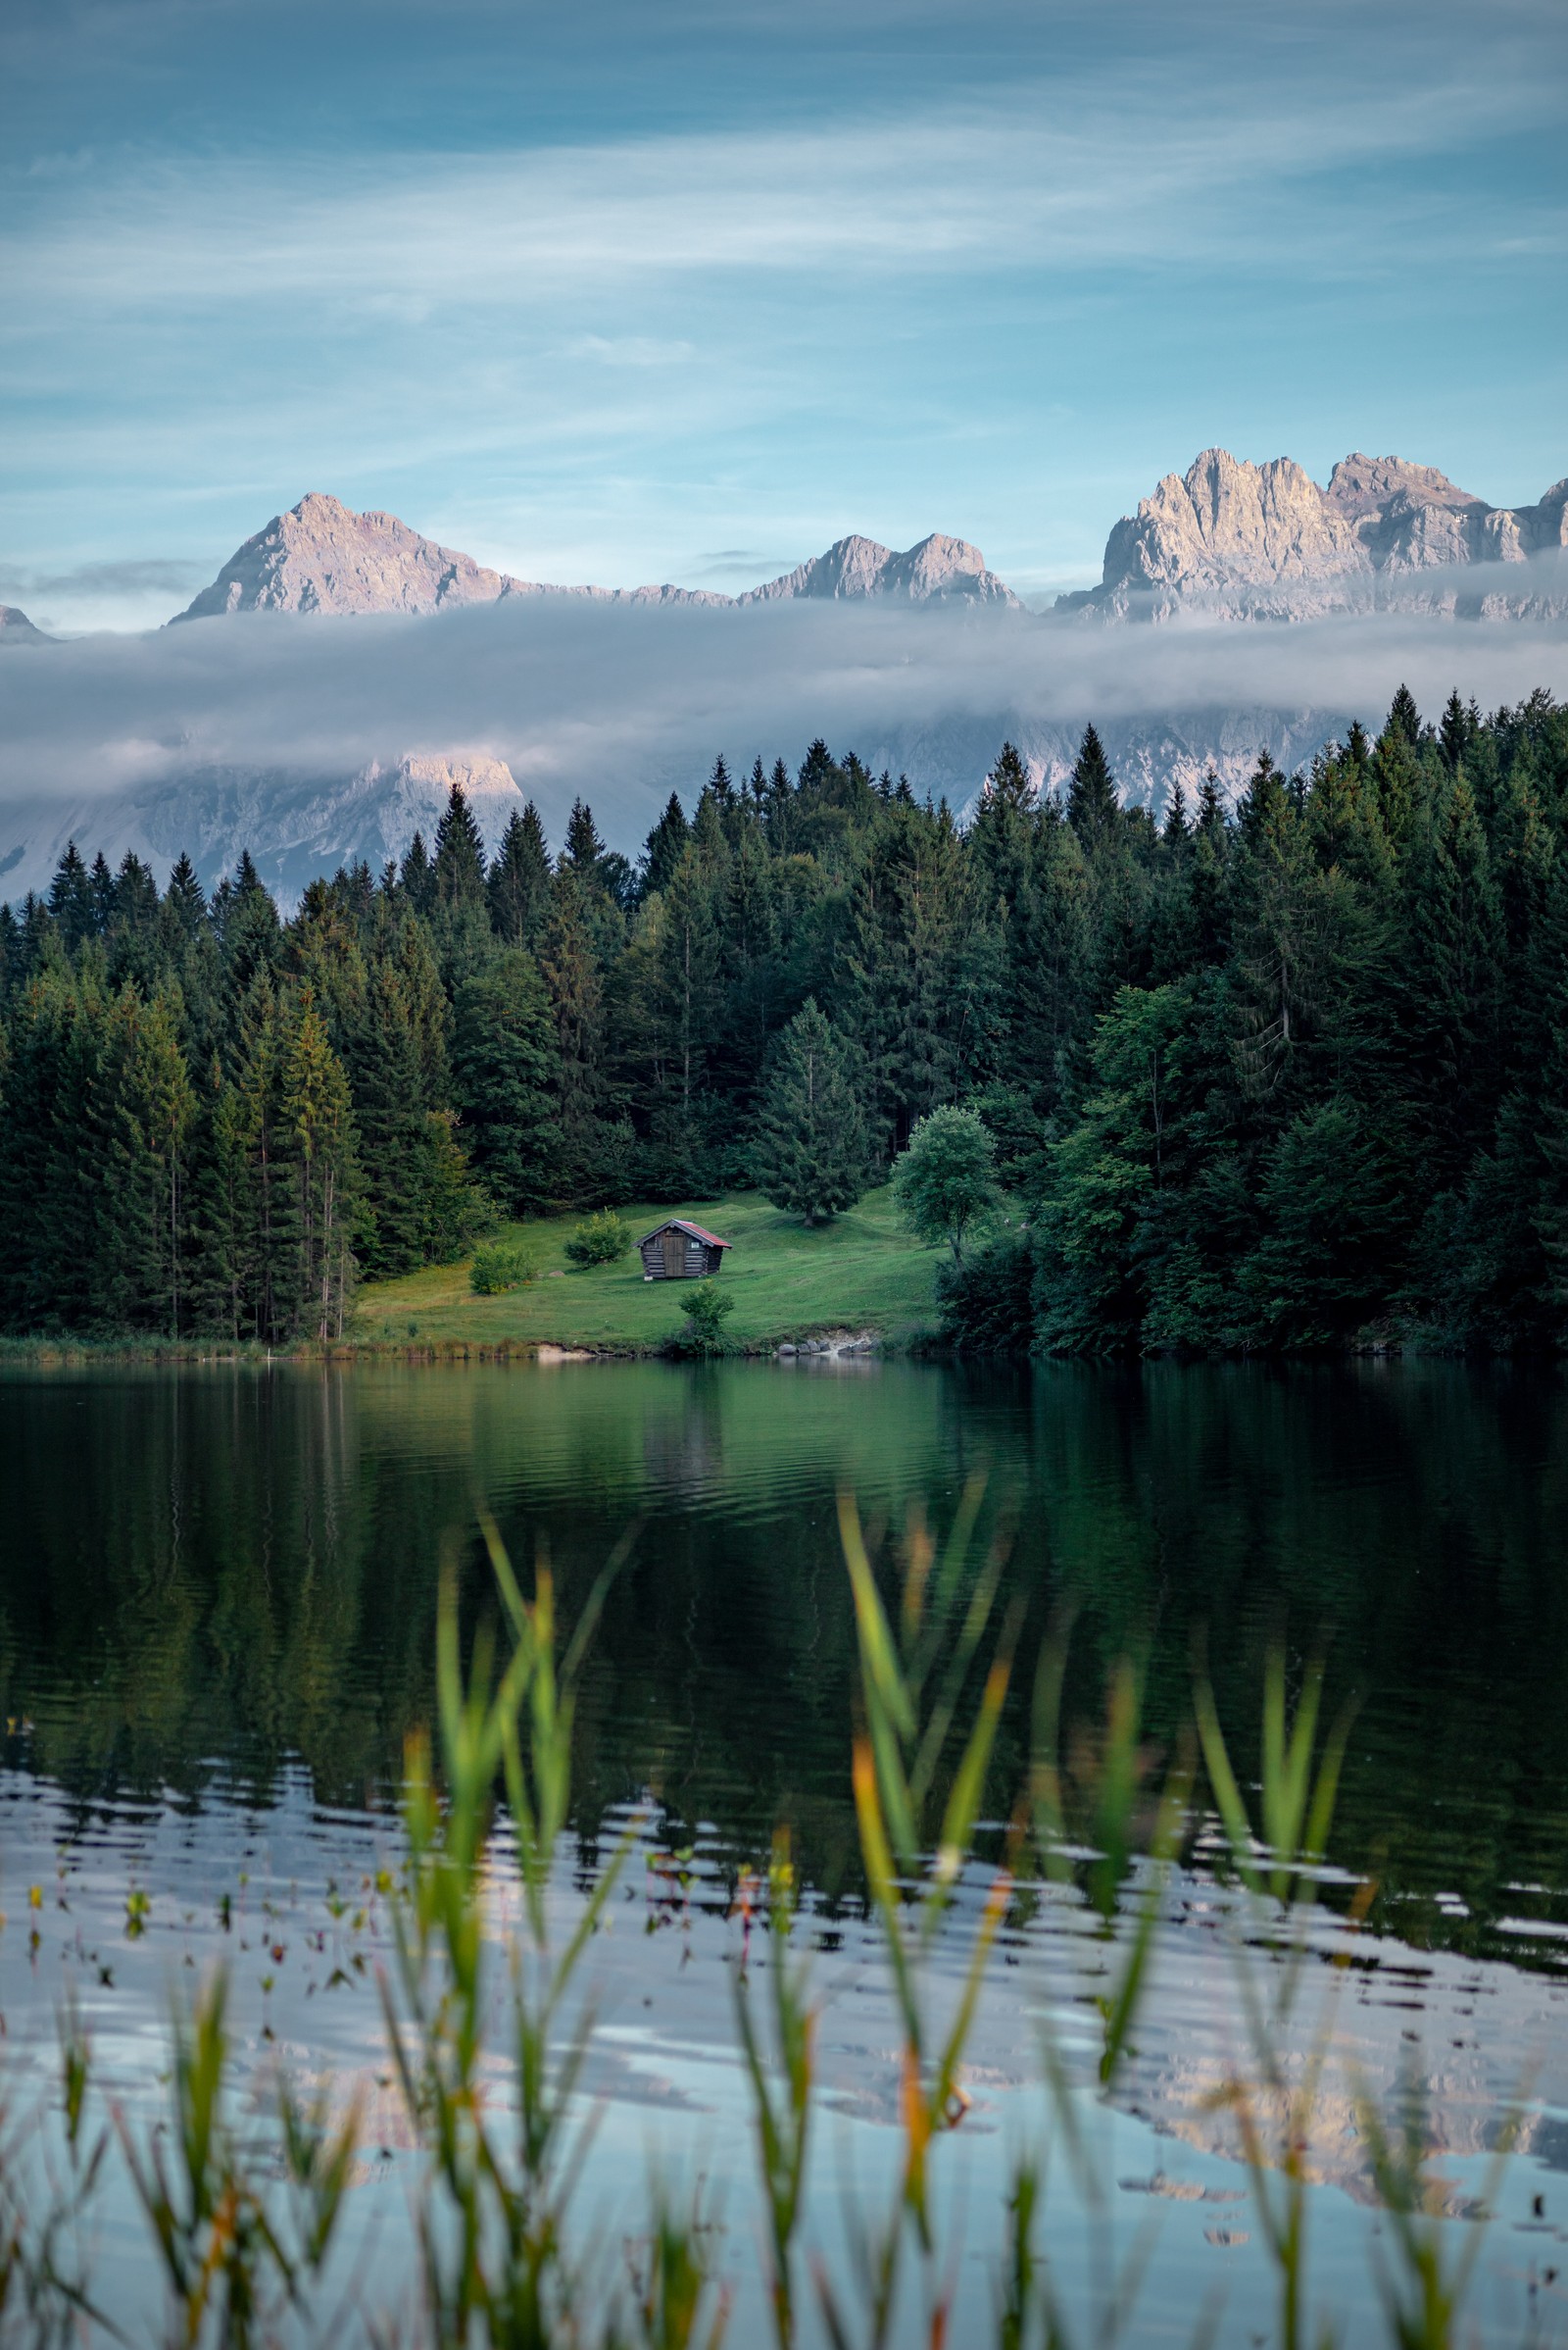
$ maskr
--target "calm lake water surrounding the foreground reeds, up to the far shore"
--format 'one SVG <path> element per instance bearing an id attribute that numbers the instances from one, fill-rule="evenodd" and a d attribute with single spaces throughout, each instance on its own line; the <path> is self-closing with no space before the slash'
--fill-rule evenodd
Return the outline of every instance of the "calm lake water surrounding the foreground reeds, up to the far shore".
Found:
<path id="1" fill-rule="evenodd" d="M 1106 1664 L 1134 1652 L 1153 1727 L 1169 1734 L 1202 1638 L 1246 1758 L 1268 1645 L 1326 1652 L 1331 1694 L 1359 1713 L 1324 1950 L 1343 1943 L 1357 1887 L 1376 1885 L 1336 2028 L 1380 2084 L 1418 2052 L 1453 2209 L 1479 2190 L 1495 2113 L 1528 2080 L 1486 2308 L 1498 2341 L 1516 2338 L 1519 2294 L 1568 2315 L 1542 2282 L 1568 2221 L 1561 1377 L 1394 1363 L 1019 1377 L 897 1363 L 42 1370 L 0 1377 L 0 2000 L 14 2066 L 28 2052 L 42 2063 L 73 1981 L 120 2094 L 153 2099 L 169 1974 L 228 1955 L 256 2049 L 284 2049 L 307 2077 L 359 2068 L 380 2096 L 385 2162 L 366 2169 L 361 2225 L 397 2232 L 401 2124 L 376 2089 L 369 1988 L 385 1920 L 373 1899 L 357 1927 L 333 1920 L 329 1887 L 354 1894 L 394 1854 L 401 1741 L 430 1716 L 444 1549 L 469 1614 L 484 1607 L 477 1506 L 519 1560 L 549 1551 L 568 1612 L 636 1518 L 580 1708 L 561 1901 L 636 1814 L 627 1932 L 606 1939 L 601 1969 L 599 2162 L 608 2183 L 617 2164 L 641 2181 L 657 2148 L 725 2181 L 744 2282 L 730 1911 L 777 1821 L 812 1894 L 829 2000 L 822 2193 L 843 2195 L 845 2164 L 876 2178 L 892 2138 L 892 2030 L 847 1795 L 836 1490 L 852 1488 L 873 1528 L 901 1530 L 911 1506 L 941 1528 L 984 1471 L 988 1513 L 1012 1530 L 1026 1650 L 1073 1610 L 1073 1713 L 1094 1716 Z M 1016 1718 L 1002 1777 L 1021 1748 Z M 45 1899 L 35 1946 L 31 1885 Z M 153 1901 L 141 1936 L 127 1936 L 131 1887 Z M 1256 2247 L 1232 2202 L 1244 2181 L 1202 2117 L 1235 2037 L 1221 1925 L 1202 1875 L 1181 1878 L 1134 2089 L 1103 2122 L 1127 2225 L 1162 2207 L 1155 2277 L 1169 2270 L 1169 2291 L 1153 2294 L 1136 2338 L 1185 2338 L 1216 2287 L 1221 2338 L 1249 2341 L 1258 2324 Z M 955 2169 L 953 2188 L 967 2195 L 976 2294 L 986 2183 L 1033 2110 L 1033 2023 L 1056 2009 L 1082 2040 L 1073 2016 L 1094 1969 L 1082 1918 L 1052 1904 L 1002 1953 L 974 2044 L 972 2176 L 960 2195 Z M 1322 2275 L 1357 2338 L 1373 2305 L 1361 2183 L 1333 2146 L 1319 2171 Z M 1054 2225 L 1068 2272 L 1082 2214 L 1061 2204 Z M 127 2242 L 110 2225 L 106 2258 L 129 2261 Z M 129 2308 L 129 2270 L 124 2291 Z"/>

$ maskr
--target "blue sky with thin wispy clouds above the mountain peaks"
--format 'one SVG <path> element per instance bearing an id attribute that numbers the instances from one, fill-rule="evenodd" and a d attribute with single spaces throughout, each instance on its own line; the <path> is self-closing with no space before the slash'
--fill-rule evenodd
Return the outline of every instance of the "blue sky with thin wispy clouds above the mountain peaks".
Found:
<path id="1" fill-rule="evenodd" d="M 305 489 L 530 578 L 1021 592 L 1207 444 L 1568 472 L 1561 0 L 7 0 L 0 599 Z"/>

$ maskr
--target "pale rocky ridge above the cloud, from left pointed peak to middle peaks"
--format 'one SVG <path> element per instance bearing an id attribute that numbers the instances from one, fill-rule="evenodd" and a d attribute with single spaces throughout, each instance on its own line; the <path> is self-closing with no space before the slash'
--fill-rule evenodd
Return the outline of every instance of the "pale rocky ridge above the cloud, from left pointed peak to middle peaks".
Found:
<path id="1" fill-rule="evenodd" d="M 934 531 L 904 555 L 873 538 L 840 538 L 796 571 L 742 597 L 702 588 L 547 588 L 491 571 L 399 522 L 397 515 L 357 515 L 340 498 L 310 491 L 286 515 L 246 538 L 218 571 L 211 588 L 176 613 L 207 620 L 237 611 L 319 613 L 432 613 L 462 604 L 500 604 L 505 597 L 577 597 L 599 604 L 763 604 L 786 597 L 897 597 L 911 604 L 976 602 L 1012 604 L 1012 588 L 986 569 L 986 557 L 965 538 Z"/>

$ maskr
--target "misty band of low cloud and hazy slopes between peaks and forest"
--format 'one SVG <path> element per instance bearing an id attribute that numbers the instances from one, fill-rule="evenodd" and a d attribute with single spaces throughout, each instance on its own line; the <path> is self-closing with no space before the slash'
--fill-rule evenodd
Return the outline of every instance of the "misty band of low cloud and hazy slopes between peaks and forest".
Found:
<path id="1" fill-rule="evenodd" d="M 1500 566 L 1507 569 L 1507 566 Z M 1305 754 L 1406 682 L 1427 714 L 1568 691 L 1568 620 L 1357 613 L 1296 625 L 1094 627 L 1035 613 L 777 604 L 500 604 L 448 616 L 202 620 L 0 653 L 0 886 L 66 832 L 134 846 L 169 792 L 347 778 L 408 752 L 505 759 L 559 839 L 570 801 L 634 851 L 669 790 L 815 736 L 965 801 L 1002 736 L 1061 771 L 1087 719 L 1141 743 L 1138 797 L 1225 743 Z M 1167 743 L 1169 752 L 1160 745 Z M 1169 780 L 1169 776 L 1167 776 Z M 157 830 L 157 827 L 155 827 Z M 19 853 L 21 851 L 21 853 Z"/>

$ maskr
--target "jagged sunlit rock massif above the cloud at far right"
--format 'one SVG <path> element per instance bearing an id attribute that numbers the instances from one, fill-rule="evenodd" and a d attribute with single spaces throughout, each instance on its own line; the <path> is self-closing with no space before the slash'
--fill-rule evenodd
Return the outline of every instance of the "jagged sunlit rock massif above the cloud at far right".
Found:
<path id="1" fill-rule="evenodd" d="M 1108 618 L 1162 618 L 1192 604 L 1277 620 L 1371 606 L 1545 616 L 1568 609 L 1568 576 L 1530 564 L 1563 548 L 1566 482 L 1537 505 L 1493 508 L 1434 465 L 1397 456 L 1357 451 L 1319 489 L 1291 458 L 1251 465 L 1204 449 L 1115 524 L 1101 585 L 1066 602 Z M 1453 573 L 1474 564 L 1530 571 L 1469 590 Z"/>

